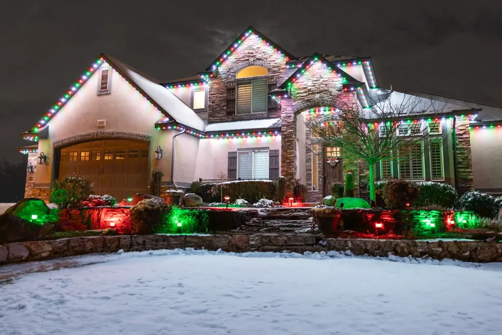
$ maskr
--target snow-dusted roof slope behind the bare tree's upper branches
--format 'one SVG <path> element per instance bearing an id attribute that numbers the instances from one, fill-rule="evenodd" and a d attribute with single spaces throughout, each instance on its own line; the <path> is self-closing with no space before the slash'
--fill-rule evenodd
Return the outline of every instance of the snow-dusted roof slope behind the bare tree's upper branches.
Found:
<path id="1" fill-rule="evenodd" d="M 449 100 L 440 101 L 433 98 L 433 96 L 420 96 L 397 91 L 391 92 L 386 89 L 371 90 L 370 94 L 372 100 L 375 102 L 373 105 L 376 106 L 373 109 L 376 110 L 379 110 L 378 108 L 387 110 L 389 104 L 400 106 L 396 110 L 406 110 L 414 115 L 454 113 L 455 111 L 469 111 L 473 109 L 472 107 L 451 103 Z M 388 96 L 385 98 L 385 95 Z M 369 115 L 371 115 L 371 112 L 369 112 Z"/>

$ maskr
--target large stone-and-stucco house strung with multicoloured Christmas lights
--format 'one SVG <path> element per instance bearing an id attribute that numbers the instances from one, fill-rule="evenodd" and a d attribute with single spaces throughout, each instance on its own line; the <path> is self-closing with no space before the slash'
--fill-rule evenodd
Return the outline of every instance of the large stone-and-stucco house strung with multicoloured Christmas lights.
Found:
<path id="1" fill-rule="evenodd" d="M 305 127 L 307 114 L 329 111 L 334 99 L 370 108 L 369 94 L 403 92 L 379 88 L 370 57 L 313 53 L 295 57 L 253 27 L 240 34 L 196 76 L 160 82 L 101 54 L 71 82 L 29 131 L 25 196 L 49 200 L 53 180 L 81 175 L 97 194 L 118 199 L 146 192 L 153 169 L 163 188 L 193 181 L 300 178 L 308 201 L 329 193 L 330 181 L 356 172 L 367 194 L 367 167 L 337 159 L 343 148 L 322 148 Z M 426 98 L 425 95 L 417 95 Z M 424 109 L 418 123 L 434 123 L 451 136 L 422 144 L 423 155 L 401 164 L 380 163 L 377 178 L 404 177 L 502 190 L 498 154 L 502 109 L 433 96 L 441 114 Z M 433 141 L 434 140 L 434 141 Z M 316 155 L 315 153 L 319 153 Z M 322 153 L 322 155 L 321 155 Z"/>

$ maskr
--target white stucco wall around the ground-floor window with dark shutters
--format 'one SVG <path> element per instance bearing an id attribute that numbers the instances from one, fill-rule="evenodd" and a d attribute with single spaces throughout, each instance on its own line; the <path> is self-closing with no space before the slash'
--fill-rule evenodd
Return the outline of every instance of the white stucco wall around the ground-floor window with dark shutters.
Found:
<path id="1" fill-rule="evenodd" d="M 202 139 L 199 143 L 195 180 L 215 179 L 220 172 L 227 174 L 228 152 L 237 151 L 237 148 L 269 147 L 271 150 L 279 149 L 281 154 L 281 136 L 245 140 Z"/>

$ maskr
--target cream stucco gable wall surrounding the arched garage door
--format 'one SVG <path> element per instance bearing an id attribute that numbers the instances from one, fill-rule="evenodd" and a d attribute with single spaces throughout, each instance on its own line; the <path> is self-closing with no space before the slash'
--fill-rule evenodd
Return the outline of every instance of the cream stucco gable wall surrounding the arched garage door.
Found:
<path id="1" fill-rule="evenodd" d="M 169 179 L 172 135 L 171 132 L 160 131 L 154 127 L 154 123 L 162 117 L 162 114 L 117 72 L 112 71 L 111 80 L 111 94 L 97 95 L 98 76 L 92 75 L 49 122 L 48 139 L 39 141 L 39 152 L 43 151 L 48 156 L 47 163 L 37 166 L 36 186 L 51 182 L 54 141 L 99 130 L 152 136 L 150 170 L 162 168 L 164 179 Z M 98 120 L 106 120 L 106 127 L 98 128 Z M 157 146 L 161 146 L 164 150 L 164 157 L 160 161 L 154 158 Z"/>

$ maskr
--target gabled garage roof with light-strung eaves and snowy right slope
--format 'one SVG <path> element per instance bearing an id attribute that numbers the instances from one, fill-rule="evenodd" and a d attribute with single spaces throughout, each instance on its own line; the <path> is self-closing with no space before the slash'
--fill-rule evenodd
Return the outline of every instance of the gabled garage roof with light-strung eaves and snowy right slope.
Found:
<path id="1" fill-rule="evenodd" d="M 115 70 L 124 80 L 133 86 L 145 99 L 147 99 L 155 108 L 171 120 L 176 120 L 181 124 L 186 124 L 194 129 L 202 130 L 204 121 L 185 103 L 183 103 L 176 95 L 170 92 L 167 88 L 158 84 L 158 80 L 142 73 L 116 59 L 100 54 L 99 57 L 86 68 L 84 73 L 75 80 L 66 92 L 53 104 L 41 120 L 35 124 L 29 131 L 24 132 L 21 136 L 29 140 L 38 140 L 38 137 L 43 138 L 41 134 L 46 130 L 47 123 L 54 115 L 68 102 L 73 95 L 82 87 L 87 80 L 97 72 L 97 69 L 107 63 Z"/>

